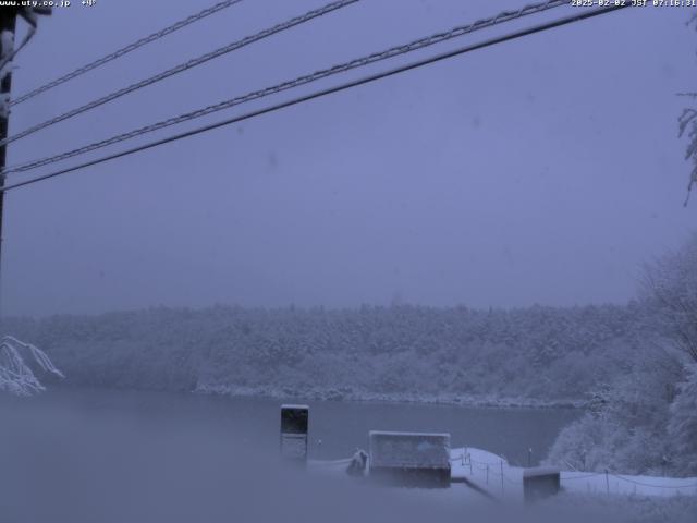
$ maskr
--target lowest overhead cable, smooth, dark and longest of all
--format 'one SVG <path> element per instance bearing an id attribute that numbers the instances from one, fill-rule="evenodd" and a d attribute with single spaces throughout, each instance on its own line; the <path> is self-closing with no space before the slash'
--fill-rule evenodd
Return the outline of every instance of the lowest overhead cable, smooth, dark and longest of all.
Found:
<path id="1" fill-rule="evenodd" d="M 565 16 L 565 17 L 562 17 L 562 19 L 558 19 L 558 20 L 551 21 L 551 22 L 546 22 L 546 23 L 542 23 L 542 24 L 538 24 L 538 25 L 535 25 L 535 26 L 531 26 L 531 27 L 528 27 L 528 28 L 525 28 L 525 29 L 519 29 L 519 31 L 516 31 L 516 32 L 513 32 L 513 33 L 509 33 L 509 34 L 503 35 L 503 36 L 490 38 L 490 39 L 481 41 L 479 44 L 472 44 L 469 46 L 461 47 L 458 49 L 455 49 L 455 50 L 452 50 L 452 51 L 448 51 L 448 52 L 444 52 L 444 53 L 441 53 L 441 54 L 437 54 L 437 56 L 431 57 L 431 58 L 426 58 L 426 59 L 423 59 L 423 60 L 418 60 L 418 61 L 415 61 L 415 62 L 412 62 L 412 63 L 408 63 L 408 64 L 405 64 L 405 65 L 401 65 L 401 66 L 388 70 L 388 71 L 383 71 L 383 72 L 380 72 L 380 73 L 371 74 L 369 76 L 364 76 L 363 78 L 358 78 L 358 80 L 354 80 L 354 81 L 351 81 L 351 82 L 346 82 L 346 83 L 340 84 L 340 85 L 334 86 L 334 87 L 329 87 L 327 89 L 322 89 L 322 90 L 318 90 L 318 92 L 315 92 L 315 93 L 310 93 L 308 95 L 299 96 L 297 98 L 293 98 L 293 99 L 288 100 L 288 101 L 283 101 L 283 102 L 280 102 L 280 104 L 277 104 L 277 105 L 273 105 L 273 106 L 270 106 L 270 107 L 266 107 L 264 109 L 259 109 L 259 110 L 256 110 L 256 111 L 250 111 L 250 112 L 247 112 L 246 114 L 242 114 L 242 115 L 239 115 L 239 117 L 233 117 L 233 118 L 230 118 L 228 120 L 223 120 L 223 121 L 220 121 L 220 122 L 217 122 L 217 123 L 212 123 L 212 124 L 205 125 L 205 126 L 201 126 L 201 127 L 197 127 L 197 129 L 194 129 L 194 130 L 191 130 L 191 131 L 186 131 L 186 132 L 183 132 L 183 133 L 180 133 L 180 134 L 175 134 L 175 135 L 169 136 L 167 138 L 162 138 L 162 139 L 158 139 L 158 141 L 155 141 L 155 142 L 150 142 L 148 144 L 144 144 L 144 145 L 140 145 L 140 146 L 137 146 L 137 147 L 133 147 L 131 149 L 126 149 L 126 150 L 123 150 L 123 151 L 120 151 L 120 153 L 115 153 L 113 155 L 105 156 L 105 157 L 101 157 L 101 158 L 97 158 L 95 160 L 90 160 L 90 161 L 86 161 L 84 163 L 80 163 L 77 166 L 73 166 L 73 167 L 69 167 L 69 168 L 65 168 L 65 169 L 61 169 L 59 171 L 54 171 L 54 172 L 51 172 L 49 174 L 44 174 L 41 177 L 37 177 L 37 178 L 34 178 L 34 179 L 30 179 L 30 180 L 26 180 L 24 182 L 13 183 L 11 185 L 7 185 L 2 191 L 7 192 L 7 191 L 11 191 L 13 188 L 19 188 L 19 187 L 22 187 L 22 186 L 30 185 L 30 184 L 34 184 L 34 183 L 37 183 L 37 182 L 40 182 L 40 181 L 44 181 L 44 180 L 48 180 L 50 178 L 56 178 L 56 177 L 59 177 L 59 175 L 62 175 L 62 174 L 66 174 L 69 172 L 74 172 L 74 171 L 77 171 L 77 170 L 81 170 L 81 169 L 85 169 L 87 167 L 91 167 L 91 166 L 96 166 L 96 165 L 99 165 L 99 163 L 103 163 L 103 162 L 109 161 L 109 160 L 113 160 L 113 159 L 121 158 L 121 157 L 124 157 L 124 156 L 130 156 L 130 155 L 133 155 L 135 153 L 139 153 L 142 150 L 146 150 L 146 149 L 150 149 L 150 148 L 154 148 L 154 147 L 158 147 L 158 146 L 163 145 L 163 144 L 176 142 L 179 139 L 187 138 L 189 136 L 194 136 L 194 135 L 201 134 L 201 133 L 205 133 L 205 132 L 208 132 L 208 131 L 212 131 L 215 129 L 222 127 L 222 126 L 225 126 L 225 125 L 231 125 L 231 124 L 234 124 L 234 123 L 237 123 L 237 122 L 242 122 L 244 120 L 249 120 L 249 119 L 253 119 L 253 118 L 256 118 L 256 117 L 260 117 L 262 114 L 267 114 L 267 113 L 270 113 L 270 112 L 276 112 L 276 111 L 280 110 L 280 109 L 285 109 L 288 107 L 296 106 L 296 105 L 303 104 L 305 101 L 314 100 L 316 98 L 320 98 L 320 97 L 323 97 L 323 96 L 327 96 L 327 95 L 331 95 L 331 94 L 334 94 L 334 93 L 340 93 L 340 92 L 343 92 L 343 90 L 346 90 L 346 89 L 350 89 L 350 88 L 353 88 L 353 87 L 357 87 L 359 85 L 365 85 L 365 84 L 368 84 L 368 83 L 372 83 L 372 82 L 376 82 L 378 80 L 382 80 L 382 78 L 387 78 L 387 77 L 390 77 L 390 76 L 394 76 L 396 74 L 404 73 L 404 72 L 407 72 L 407 71 L 412 71 L 412 70 L 415 70 L 415 69 L 418 69 L 418 68 L 421 68 L 421 66 L 425 66 L 425 65 L 429 65 L 431 63 L 440 62 L 440 61 L 443 61 L 443 60 L 447 60 L 447 59 L 450 59 L 450 58 L 454 58 L 454 57 L 457 57 L 460 54 L 465 54 L 467 52 L 472 52 L 472 51 L 475 51 L 475 50 L 478 50 L 478 49 L 484 49 L 486 47 L 492 47 L 492 46 L 498 45 L 498 44 L 503 44 L 505 41 L 510 41 L 510 40 L 513 40 L 513 39 L 516 39 L 516 38 L 521 38 L 521 37 L 524 37 L 524 36 L 533 35 L 533 34 L 536 34 L 536 33 L 541 33 L 541 32 L 545 32 L 545 31 L 548 31 L 548 29 L 552 29 L 554 27 L 561 27 L 563 25 L 568 25 L 568 24 L 572 24 L 572 23 L 575 23 L 575 22 L 579 22 L 579 21 L 583 21 L 583 20 L 586 20 L 586 19 L 595 17 L 595 16 L 598 16 L 598 15 L 601 15 L 601 14 L 607 14 L 607 13 L 612 12 L 612 11 L 617 11 L 620 9 L 624 9 L 624 8 L 627 8 L 627 7 L 629 7 L 629 4 L 609 5 L 609 7 L 598 8 L 598 9 L 594 9 L 594 10 L 587 10 L 587 11 L 584 10 L 584 11 L 582 11 L 582 12 L 579 12 L 577 14 L 571 15 L 571 16 Z"/>

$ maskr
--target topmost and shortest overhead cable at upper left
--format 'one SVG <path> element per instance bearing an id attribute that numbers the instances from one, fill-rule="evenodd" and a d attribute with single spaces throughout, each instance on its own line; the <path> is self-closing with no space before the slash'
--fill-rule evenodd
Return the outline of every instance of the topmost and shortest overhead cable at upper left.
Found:
<path id="1" fill-rule="evenodd" d="M 215 5 L 211 5 L 210 8 L 204 9 L 203 11 L 196 13 L 196 14 L 192 14 L 191 16 L 187 16 L 184 20 L 180 20 L 179 22 L 164 27 L 163 29 L 158 31 L 157 33 L 152 33 L 151 35 L 148 35 L 146 37 L 140 38 L 139 40 L 134 41 L 133 44 L 129 44 L 125 47 L 122 47 L 121 49 L 113 51 L 110 54 L 107 54 L 106 57 L 102 57 L 98 60 L 95 60 L 94 62 L 89 62 L 86 65 L 83 65 L 82 68 L 78 68 L 74 71 L 71 71 L 68 74 L 64 74 L 63 76 L 53 80 L 52 82 L 49 82 L 48 84 L 45 84 L 40 87 L 37 87 L 33 90 L 30 90 L 29 93 L 26 93 L 25 95 L 20 96 L 19 98 L 12 100 L 10 102 L 11 106 L 16 106 L 19 104 L 22 104 L 23 101 L 28 100 L 29 98 L 34 98 L 37 95 L 40 95 L 41 93 L 46 93 L 49 89 L 52 89 L 53 87 L 57 87 L 61 84 L 64 84 L 65 82 L 69 82 L 73 78 L 76 78 L 77 76 L 81 76 L 94 69 L 97 69 L 101 65 L 103 65 L 105 63 L 111 62 L 112 60 L 115 60 L 118 58 L 123 57 L 124 54 L 127 54 L 131 51 L 135 51 L 136 49 L 150 44 L 155 40 L 158 40 L 167 35 L 170 35 L 183 27 L 186 27 L 187 25 L 193 24 L 194 22 L 198 22 L 201 19 L 205 19 L 206 16 L 210 16 L 211 14 L 215 14 L 219 11 L 222 11 L 223 9 L 230 8 L 236 3 L 242 2 L 242 0 L 225 0 L 223 2 L 218 2 Z"/>

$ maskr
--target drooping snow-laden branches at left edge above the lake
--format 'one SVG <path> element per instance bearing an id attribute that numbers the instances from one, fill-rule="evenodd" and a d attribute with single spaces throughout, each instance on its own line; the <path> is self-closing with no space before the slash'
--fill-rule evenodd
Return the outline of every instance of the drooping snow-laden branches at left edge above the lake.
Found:
<path id="1" fill-rule="evenodd" d="M 34 369 L 33 369 L 34 367 Z M 0 392 L 32 396 L 46 390 L 36 372 L 64 378 L 44 351 L 5 336 L 0 339 Z"/>

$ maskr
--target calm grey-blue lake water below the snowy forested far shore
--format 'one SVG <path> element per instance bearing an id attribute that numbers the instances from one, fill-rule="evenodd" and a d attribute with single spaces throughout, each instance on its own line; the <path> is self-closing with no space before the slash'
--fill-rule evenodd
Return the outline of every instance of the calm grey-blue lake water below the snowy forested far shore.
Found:
<path id="1" fill-rule="evenodd" d="M 29 399 L 0 398 L 0 419 L 20 438 L 25 430 L 58 431 L 61 421 L 71 419 L 70 430 L 77 434 L 113 423 L 148 428 L 144 437 L 164 437 L 181 427 L 198 427 L 201 434 L 254 441 L 266 451 L 276 452 L 281 403 L 270 399 L 66 388 Z M 445 431 L 451 434 L 453 447 L 477 447 L 503 454 L 514 464 L 527 465 L 528 449 L 533 449 L 533 461 L 537 463 L 561 428 L 579 415 L 579 411 L 568 409 L 305 403 L 310 406 L 310 455 L 318 459 L 350 457 L 357 447 L 367 446 L 367 434 L 372 429 Z M 44 422 L 47 426 L 41 426 Z"/>

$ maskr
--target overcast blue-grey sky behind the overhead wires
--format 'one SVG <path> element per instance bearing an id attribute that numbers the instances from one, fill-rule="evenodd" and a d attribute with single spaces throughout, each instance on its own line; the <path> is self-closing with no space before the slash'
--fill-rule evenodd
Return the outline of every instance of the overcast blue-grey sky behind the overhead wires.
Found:
<path id="1" fill-rule="evenodd" d="M 41 19 L 15 95 L 212 0 L 73 3 Z M 322 3 L 245 0 L 16 107 L 11 133 Z M 523 4 L 364 0 L 14 143 L 9 163 Z M 697 218 L 675 96 L 696 88 L 692 13 L 624 10 L 13 191 L 3 312 L 626 302 Z"/>

